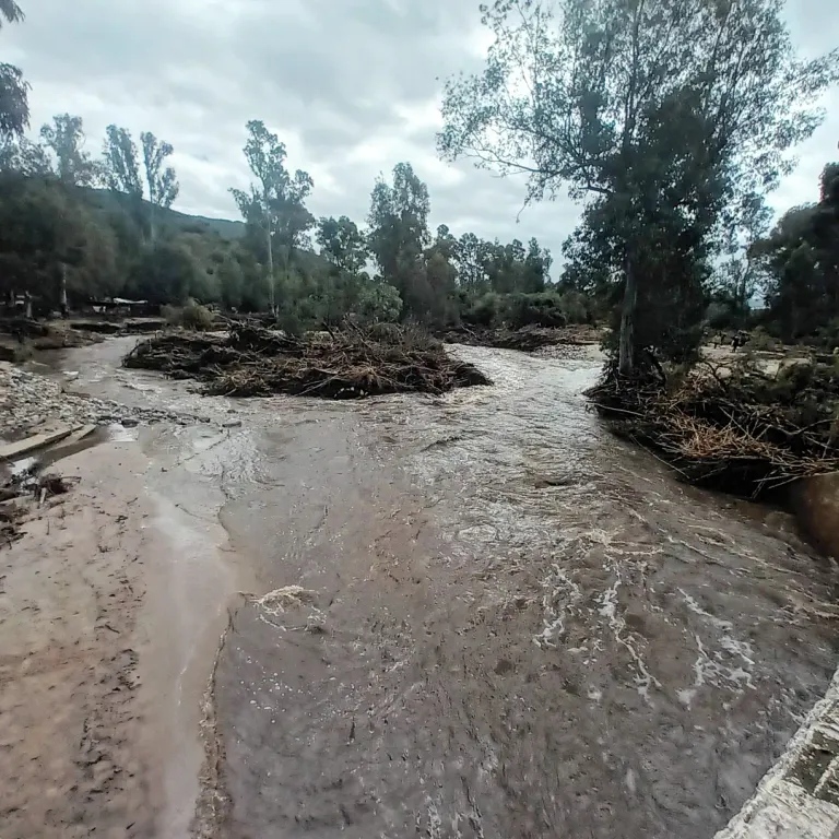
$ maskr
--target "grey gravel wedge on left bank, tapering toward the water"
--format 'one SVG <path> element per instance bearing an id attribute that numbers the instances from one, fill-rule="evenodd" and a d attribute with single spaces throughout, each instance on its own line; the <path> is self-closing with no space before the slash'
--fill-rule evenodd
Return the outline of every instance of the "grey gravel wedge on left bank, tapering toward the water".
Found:
<path id="1" fill-rule="evenodd" d="M 205 417 L 156 407 L 131 407 L 114 400 L 66 393 L 52 379 L 0 364 L 0 437 L 19 435 L 36 426 L 110 425 L 126 427 L 155 423 L 208 422 Z"/>

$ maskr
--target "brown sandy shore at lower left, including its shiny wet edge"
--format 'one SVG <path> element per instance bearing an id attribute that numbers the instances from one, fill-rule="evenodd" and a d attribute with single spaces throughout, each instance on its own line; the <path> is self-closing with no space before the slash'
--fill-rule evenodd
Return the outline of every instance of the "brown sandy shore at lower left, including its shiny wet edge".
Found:
<path id="1" fill-rule="evenodd" d="M 60 461 L 78 487 L 0 548 L 2 839 L 188 834 L 228 580 L 180 613 L 189 566 L 151 469 L 137 442 Z M 223 537 L 187 541 L 212 560 Z"/>

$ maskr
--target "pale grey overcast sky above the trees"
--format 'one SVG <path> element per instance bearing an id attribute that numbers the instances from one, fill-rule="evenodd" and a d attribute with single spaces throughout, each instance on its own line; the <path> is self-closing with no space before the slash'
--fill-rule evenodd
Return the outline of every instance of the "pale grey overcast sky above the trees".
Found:
<path id="1" fill-rule="evenodd" d="M 839 46 L 837 0 L 790 0 L 800 49 Z M 362 223 L 379 173 L 400 161 L 428 184 L 432 224 L 456 235 L 536 236 L 559 257 L 579 208 L 568 199 L 522 206 L 520 179 L 437 159 L 442 81 L 477 70 L 487 46 L 476 0 L 19 0 L 26 21 L 3 27 L 0 60 L 32 84 L 32 125 L 84 118 L 98 153 L 105 127 L 175 146 L 176 209 L 238 217 L 228 193 L 249 176 L 245 122 L 263 119 L 291 168 L 315 179 L 315 215 Z M 800 149 L 801 164 L 772 197 L 781 209 L 813 200 L 839 158 L 839 93 Z"/>

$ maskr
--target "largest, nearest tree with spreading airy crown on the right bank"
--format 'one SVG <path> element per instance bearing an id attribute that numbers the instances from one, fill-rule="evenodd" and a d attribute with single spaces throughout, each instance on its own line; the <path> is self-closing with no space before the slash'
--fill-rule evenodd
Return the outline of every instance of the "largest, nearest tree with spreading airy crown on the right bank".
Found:
<path id="1" fill-rule="evenodd" d="M 839 51 L 796 59 L 781 0 L 495 0 L 484 72 L 449 82 L 445 157 L 529 176 L 527 198 L 594 196 L 624 282 L 619 367 L 633 369 L 640 249 L 710 238 L 777 185 L 808 137 Z M 663 276 L 663 274 L 661 274 Z"/>

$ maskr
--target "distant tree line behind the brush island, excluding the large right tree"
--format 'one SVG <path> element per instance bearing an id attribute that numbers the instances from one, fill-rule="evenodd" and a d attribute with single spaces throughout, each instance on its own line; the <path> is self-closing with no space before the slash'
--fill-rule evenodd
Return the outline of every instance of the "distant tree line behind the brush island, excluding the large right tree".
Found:
<path id="1" fill-rule="evenodd" d="M 22 20 L 10 9 L 9 22 Z M 19 94 L 25 103 L 25 85 Z M 316 218 L 307 206 L 311 176 L 292 169 L 285 144 L 252 120 L 243 150 L 251 182 L 231 189 L 244 224 L 231 236 L 229 226 L 223 234 L 211 220 L 172 212 L 179 194 L 174 149 L 151 131 L 137 143 L 127 128 L 108 126 L 95 155 L 79 116 L 54 117 L 36 140 L 24 134 L 26 108 L 5 117 L 0 291 L 42 309 L 106 296 L 191 298 L 270 310 L 289 327 L 347 315 L 444 327 L 462 317 L 497 320 L 512 296 L 544 295 L 550 286 L 551 253 L 535 239 L 457 238 L 446 226 L 433 234 L 428 188 L 409 163 L 374 185 L 366 224 Z"/>

